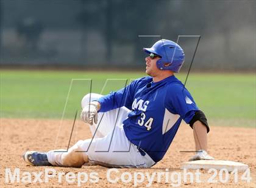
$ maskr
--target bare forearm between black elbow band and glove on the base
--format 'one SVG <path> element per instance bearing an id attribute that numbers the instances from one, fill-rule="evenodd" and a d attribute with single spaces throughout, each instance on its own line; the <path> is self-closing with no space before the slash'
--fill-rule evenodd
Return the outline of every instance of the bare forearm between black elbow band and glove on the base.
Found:
<path id="1" fill-rule="evenodd" d="M 193 124 L 193 133 L 196 150 L 207 151 L 207 128 L 201 121 L 196 121 Z"/>

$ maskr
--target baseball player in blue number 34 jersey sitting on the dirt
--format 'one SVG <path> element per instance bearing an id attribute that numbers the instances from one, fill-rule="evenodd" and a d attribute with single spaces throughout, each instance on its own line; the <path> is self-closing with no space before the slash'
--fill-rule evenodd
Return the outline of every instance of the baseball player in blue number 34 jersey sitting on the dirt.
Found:
<path id="1" fill-rule="evenodd" d="M 151 167 L 165 156 L 182 119 L 194 133 L 197 152 L 190 160 L 213 159 L 207 153 L 210 129 L 204 112 L 174 76 L 185 58 L 182 48 L 161 39 L 143 50 L 149 76 L 108 95 L 88 93 L 82 99 L 80 116 L 93 138 L 78 141 L 68 152 L 28 151 L 24 160 L 32 166 Z"/>

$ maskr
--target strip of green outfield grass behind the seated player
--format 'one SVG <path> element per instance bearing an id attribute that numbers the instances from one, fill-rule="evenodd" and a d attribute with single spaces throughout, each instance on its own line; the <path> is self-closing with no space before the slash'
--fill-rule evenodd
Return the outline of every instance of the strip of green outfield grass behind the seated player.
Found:
<path id="1" fill-rule="evenodd" d="M 71 79 L 93 79 L 92 92 L 103 94 L 120 89 L 125 79 L 145 76 L 139 72 L 77 72 L 0 70 L 1 118 L 61 118 Z M 176 75 L 185 81 L 185 74 Z M 255 75 L 191 73 L 187 82 L 197 106 L 210 123 L 255 127 Z M 64 118 L 80 110 L 82 97 L 90 92 L 90 81 L 73 81 Z"/>

